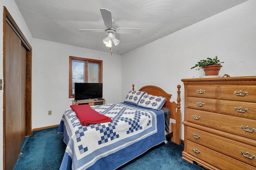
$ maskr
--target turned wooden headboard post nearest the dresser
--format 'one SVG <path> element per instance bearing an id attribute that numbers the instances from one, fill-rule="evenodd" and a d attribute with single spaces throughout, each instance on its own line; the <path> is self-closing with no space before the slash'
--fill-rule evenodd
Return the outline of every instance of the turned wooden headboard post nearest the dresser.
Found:
<path id="1" fill-rule="evenodd" d="M 177 94 L 178 94 L 178 97 L 177 97 L 177 112 L 176 112 L 176 137 L 175 137 L 175 143 L 177 144 L 181 144 L 181 112 L 180 112 L 180 88 L 181 86 L 178 85 L 177 86 L 178 88 L 178 91 L 177 91 Z"/>

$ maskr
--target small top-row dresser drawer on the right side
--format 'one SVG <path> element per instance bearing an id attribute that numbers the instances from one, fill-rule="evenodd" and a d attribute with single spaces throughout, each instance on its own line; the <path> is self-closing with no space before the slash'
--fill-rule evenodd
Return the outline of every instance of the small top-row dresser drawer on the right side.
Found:
<path id="1" fill-rule="evenodd" d="M 255 86 L 220 86 L 220 98 L 256 102 Z"/>

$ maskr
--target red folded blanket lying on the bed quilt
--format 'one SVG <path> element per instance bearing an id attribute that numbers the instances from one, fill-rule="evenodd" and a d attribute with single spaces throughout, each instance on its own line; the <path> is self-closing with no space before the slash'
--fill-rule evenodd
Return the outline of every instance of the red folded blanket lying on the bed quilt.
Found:
<path id="1" fill-rule="evenodd" d="M 83 126 L 95 123 L 111 122 L 112 119 L 92 109 L 88 104 L 70 106 Z"/>

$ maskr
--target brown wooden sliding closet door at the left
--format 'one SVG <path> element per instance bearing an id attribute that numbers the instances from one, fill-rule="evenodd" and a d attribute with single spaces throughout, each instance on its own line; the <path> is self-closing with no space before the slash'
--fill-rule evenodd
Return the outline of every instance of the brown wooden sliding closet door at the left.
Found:
<path id="1" fill-rule="evenodd" d="M 12 170 L 25 139 L 26 53 L 20 38 L 5 24 L 5 163 Z"/>

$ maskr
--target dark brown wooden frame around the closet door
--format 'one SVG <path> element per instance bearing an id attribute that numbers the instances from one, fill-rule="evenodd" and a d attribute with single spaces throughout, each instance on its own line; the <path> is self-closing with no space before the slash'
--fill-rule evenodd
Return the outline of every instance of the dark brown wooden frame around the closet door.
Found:
<path id="1" fill-rule="evenodd" d="M 32 127 L 31 127 L 31 89 L 32 89 L 32 84 L 31 84 L 31 78 L 32 78 L 32 47 L 28 43 L 28 40 L 4 6 L 4 12 L 3 12 L 3 82 L 5 83 L 5 24 L 9 24 L 14 32 L 18 35 L 18 37 L 21 39 L 22 45 L 26 48 L 26 136 L 31 136 L 32 135 Z M 4 169 L 5 169 L 5 152 L 6 152 L 6 133 L 5 133 L 5 119 L 6 119 L 6 103 L 5 103 L 5 86 L 3 88 L 4 90 L 4 96 L 3 96 L 3 164 L 4 164 Z"/>

